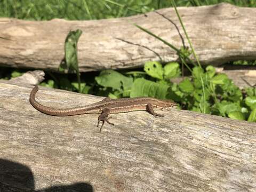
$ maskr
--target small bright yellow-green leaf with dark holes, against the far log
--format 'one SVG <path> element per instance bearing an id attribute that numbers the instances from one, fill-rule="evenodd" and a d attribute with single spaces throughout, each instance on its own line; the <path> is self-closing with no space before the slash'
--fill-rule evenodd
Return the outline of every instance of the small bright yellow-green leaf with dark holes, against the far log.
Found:
<path id="1" fill-rule="evenodd" d="M 144 70 L 151 77 L 158 78 L 161 80 L 164 79 L 163 78 L 163 74 L 164 74 L 163 67 L 162 67 L 161 63 L 159 63 L 157 61 L 146 62 L 145 66 L 144 66 Z"/>

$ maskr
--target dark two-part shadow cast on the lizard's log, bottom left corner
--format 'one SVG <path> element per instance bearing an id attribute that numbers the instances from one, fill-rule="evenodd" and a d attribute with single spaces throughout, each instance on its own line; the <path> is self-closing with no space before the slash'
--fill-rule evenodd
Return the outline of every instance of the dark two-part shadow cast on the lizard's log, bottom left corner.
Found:
<path id="1" fill-rule="evenodd" d="M 0 192 L 93 192 L 89 183 L 53 186 L 35 190 L 34 175 L 26 165 L 0 158 Z"/>

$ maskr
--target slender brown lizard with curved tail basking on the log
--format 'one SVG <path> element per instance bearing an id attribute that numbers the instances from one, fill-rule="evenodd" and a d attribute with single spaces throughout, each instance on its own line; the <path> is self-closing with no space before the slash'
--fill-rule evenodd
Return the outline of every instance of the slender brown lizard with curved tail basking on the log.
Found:
<path id="1" fill-rule="evenodd" d="M 71 115 L 80 115 L 80 114 L 100 114 L 98 117 L 99 127 L 100 121 L 102 121 L 102 125 L 100 127 L 100 132 L 105 124 L 105 122 L 114 125 L 114 123 L 110 123 L 108 117 L 109 114 L 116 113 L 125 113 L 130 111 L 138 111 L 138 110 L 146 110 L 149 114 L 155 117 L 164 117 L 164 115 L 155 113 L 154 110 L 170 110 L 174 106 L 177 106 L 177 103 L 172 100 L 164 100 L 164 99 L 155 99 L 150 97 L 136 97 L 136 98 L 120 98 L 120 99 L 110 99 L 104 98 L 102 101 L 95 102 L 89 105 L 81 106 L 81 107 L 73 107 L 73 108 L 64 108 L 64 109 L 56 109 L 52 107 L 46 107 L 41 105 L 36 101 L 35 95 L 38 91 L 38 86 L 35 85 L 33 90 L 30 92 L 29 101 L 31 105 L 47 115 L 53 116 L 71 116 Z"/>

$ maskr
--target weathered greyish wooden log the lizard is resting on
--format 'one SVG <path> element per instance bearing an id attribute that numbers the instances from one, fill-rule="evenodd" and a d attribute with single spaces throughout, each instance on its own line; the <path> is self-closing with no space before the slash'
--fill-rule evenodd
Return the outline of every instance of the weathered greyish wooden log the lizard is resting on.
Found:
<path id="1" fill-rule="evenodd" d="M 32 88 L 0 81 L 0 187 L 20 191 L 256 188 L 256 123 L 178 109 L 160 111 L 165 117 L 158 118 L 134 111 L 111 115 L 115 125 L 106 124 L 99 133 L 98 114 L 56 117 L 34 109 L 29 103 Z M 39 87 L 36 99 L 57 108 L 102 100 L 45 87 Z"/>

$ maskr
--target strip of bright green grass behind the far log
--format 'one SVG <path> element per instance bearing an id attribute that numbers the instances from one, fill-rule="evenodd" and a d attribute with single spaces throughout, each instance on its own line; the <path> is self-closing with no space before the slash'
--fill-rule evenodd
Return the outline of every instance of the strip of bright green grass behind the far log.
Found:
<path id="1" fill-rule="evenodd" d="M 177 0 L 177 6 L 199 6 L 227 2 L 237 6 L 256 7 L 255 0 Z M 0 17 L 27 20 L 90 20 L 127 17 L 172 6 L 166 0 L 2 0 Z"/>

